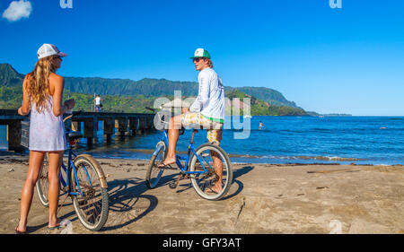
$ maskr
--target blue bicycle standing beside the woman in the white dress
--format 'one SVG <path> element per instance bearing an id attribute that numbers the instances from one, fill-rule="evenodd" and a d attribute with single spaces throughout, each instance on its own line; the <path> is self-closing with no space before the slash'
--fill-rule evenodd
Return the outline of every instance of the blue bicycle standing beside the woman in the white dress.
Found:
<path id="1" fill-rule="evenodd" d="M 80 114 L 75 112 L 64 121 Z M 109 197 L 108 185 L 98 161 L 88 154 L 76 155 L 73 146 L 83 137 L 80 132 L 66 127 L 69 141 L 67 167 L 62 162 L 60 171 L 60 190 L 70 196 L 78 219 L 88 230 L 101 230 L 108 219 Z M 48 206 L 48 158 L 45 157 L 40 178 L 37 181 L 37 193 L 40 203 Z"/>

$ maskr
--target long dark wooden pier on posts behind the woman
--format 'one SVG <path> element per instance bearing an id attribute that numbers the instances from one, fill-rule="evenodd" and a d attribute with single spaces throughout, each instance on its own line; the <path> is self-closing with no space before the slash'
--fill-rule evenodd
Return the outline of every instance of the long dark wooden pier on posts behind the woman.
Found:
<path id="1" fill-rule="evenodd" d="M 7 126 L 9 151 L 22 152 L 24 149 L 21 145 L 22 120 L 28 120 L 28 117 L 18 115 L 17 109 L 0 109 L 0 125 Z M 72 129 L 81 131 L 83 122 L 83 137 L 87 138 L 88 145 L 92 145 L 97 137 L 99 121 L 103 122 L 103 135 L 107 142 L 111 135 L 125 137 L 145 134 L 145 130 L 154 129 L 154 114 L 114 112 L 82 112 L 67 120 L 66 126 L 71 124 Z"/>

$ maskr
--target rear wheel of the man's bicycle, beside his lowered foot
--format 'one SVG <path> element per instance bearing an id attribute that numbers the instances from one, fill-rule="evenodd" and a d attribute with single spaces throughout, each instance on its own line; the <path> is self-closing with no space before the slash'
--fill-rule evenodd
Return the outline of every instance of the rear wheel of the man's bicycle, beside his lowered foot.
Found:
<path id="1" fill-rule="evenodd" d="M 205 143 L 196 150 L 189 164 L 189 171 L 204 171 L 201 174 L 191 174 L 190 179 L 198 196 L 207 200 L 219 200 L 227 192 L 233 183 L 233 169 L 226 152 L 212 143 Z M 203 167 L 202 167 L 203 165 Z M 222 172 L 220 172 L 222 170 Z M 222 176 L 220 176 L 222 173 Z M 221 181 L 222 190 L 217 193 L 206 192 Z"/>

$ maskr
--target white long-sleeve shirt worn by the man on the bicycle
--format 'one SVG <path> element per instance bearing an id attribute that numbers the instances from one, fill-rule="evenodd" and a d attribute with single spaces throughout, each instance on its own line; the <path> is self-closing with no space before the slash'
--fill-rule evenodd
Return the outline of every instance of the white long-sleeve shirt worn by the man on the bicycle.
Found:
<path id="1" fill-rule="evenodd" d="M 212 68 L 205 68 L 198 74 L 198 97 L 190 106 L 190 112 L 200 112 L 202 116 L 224 123 L 224 86 L 222 79 Z"/>

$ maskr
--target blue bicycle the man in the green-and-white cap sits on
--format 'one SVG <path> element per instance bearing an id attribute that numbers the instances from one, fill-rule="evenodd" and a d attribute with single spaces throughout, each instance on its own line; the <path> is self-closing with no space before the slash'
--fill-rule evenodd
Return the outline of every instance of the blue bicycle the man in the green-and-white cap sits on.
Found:
<path id="1" fill-rule="evenodd" d="M 157 115 L 155 118 L 160 117 Z M 162 120 L 161 117 L 159 120 Z M 180 129 L 180 135 L 185 129 Z M 180 169 L 180 174 L 169 184 L 171 189 L 178 186 L 181 178 L 190 178 L 198 196 L 207 200 L 219 200 L 229 191 L 233 183 L 233 169 L 226 152 L 218 145 L 204 143 L 194 149 L 194 135 L 197 130 L 193 130 L 189 141 L 188 154 L 186 157 L 175 155 L 176 164 Z M 146 186 L 153 189 L 157 187 L 164 169 L 158 165 L 164 161 L 168 150 L 167 130 L 162 130 L 162 139 L 156 144 L 151 161 L 146 173 Z M 183 164 L 184 163 L 184 164 Z M 213 190 L 215 183 L 220 183 L 222 190 Z"/>

